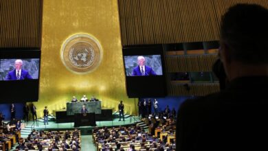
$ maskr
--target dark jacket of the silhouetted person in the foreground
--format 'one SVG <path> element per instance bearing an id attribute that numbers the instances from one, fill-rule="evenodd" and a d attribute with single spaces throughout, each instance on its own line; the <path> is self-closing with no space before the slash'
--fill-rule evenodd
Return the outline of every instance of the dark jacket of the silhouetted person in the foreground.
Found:
<path id="1" fill-rule="evenodd" d="M 268 77 L 232 80 L 225 90 L 181 104 L 177 150 L 268 150 Z"/>

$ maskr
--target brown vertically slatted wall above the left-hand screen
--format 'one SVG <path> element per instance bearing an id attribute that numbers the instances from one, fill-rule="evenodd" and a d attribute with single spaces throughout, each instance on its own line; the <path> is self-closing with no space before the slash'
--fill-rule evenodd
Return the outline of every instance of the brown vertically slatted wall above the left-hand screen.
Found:
<path id="1" fill-rule="evenodd" d="M 0 47 L 41 47 L 43 0 L 0 1 Z"/>

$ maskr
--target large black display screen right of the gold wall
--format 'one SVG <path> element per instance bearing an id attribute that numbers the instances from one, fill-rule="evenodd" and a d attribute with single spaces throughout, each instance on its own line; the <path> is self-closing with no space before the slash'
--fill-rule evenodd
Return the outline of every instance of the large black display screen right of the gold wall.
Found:
<path id="1" fill-rule="evenodd" d="M 162 45 L 123 47 L 126 91 L 129 97 L 166 96 Z"/>

